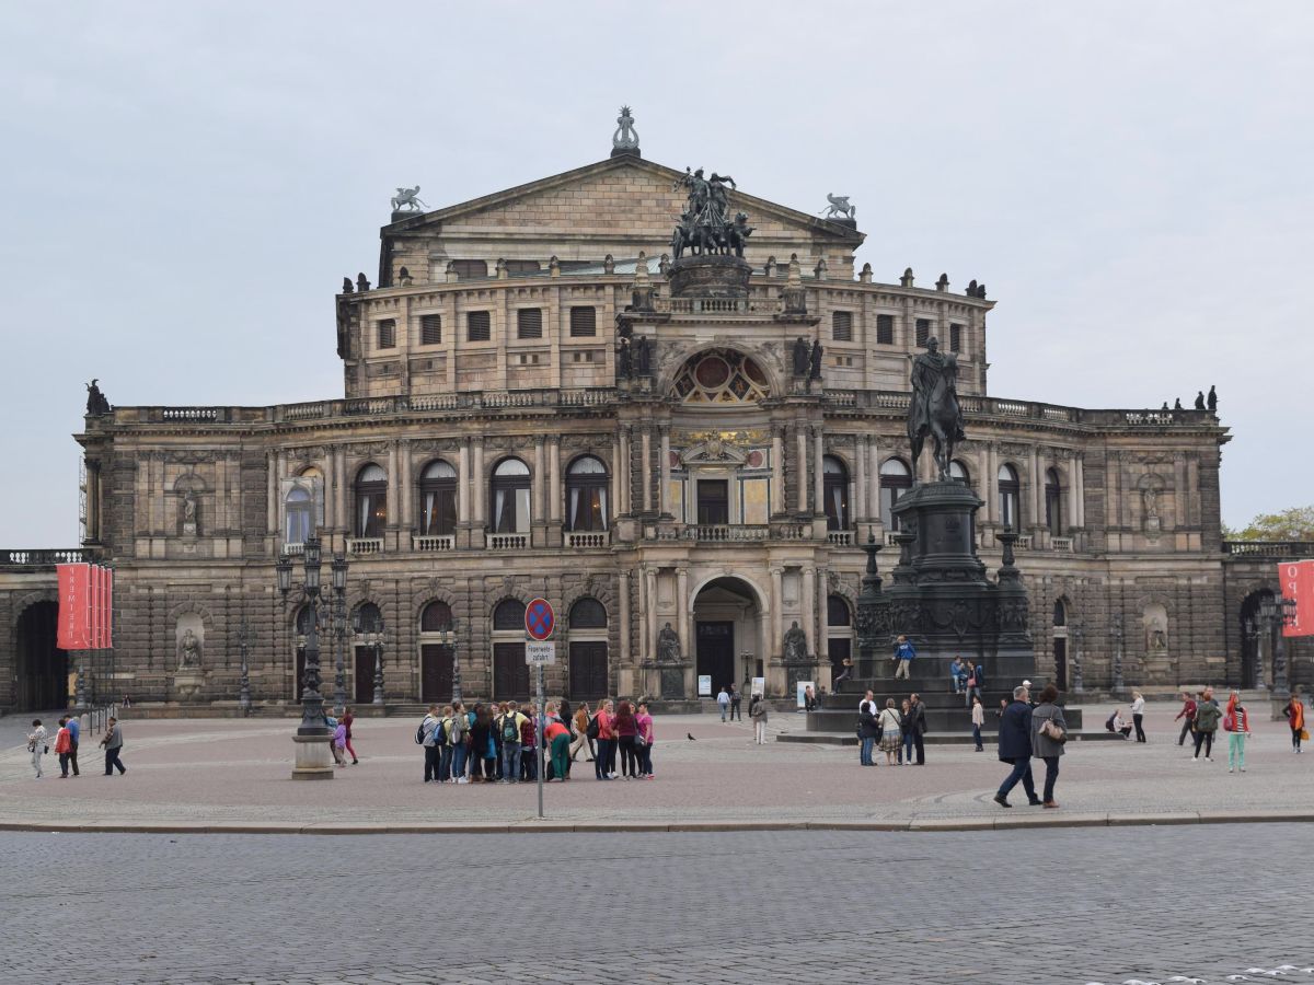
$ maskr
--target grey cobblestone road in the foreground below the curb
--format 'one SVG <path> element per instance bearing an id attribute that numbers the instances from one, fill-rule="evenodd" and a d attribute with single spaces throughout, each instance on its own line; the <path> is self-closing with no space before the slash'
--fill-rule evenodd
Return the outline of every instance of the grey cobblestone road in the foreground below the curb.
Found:
<path id="1" fill-rule="evenodd" d="M 1293 863 L 1310 858 L 1310 825 L 0 833 L 0 953 L 16 985 L 1112 985 L 1173 974 L 1214 985 L 1247 968 L 1310 967 L 1314 938 L 1292 884 Z"/>

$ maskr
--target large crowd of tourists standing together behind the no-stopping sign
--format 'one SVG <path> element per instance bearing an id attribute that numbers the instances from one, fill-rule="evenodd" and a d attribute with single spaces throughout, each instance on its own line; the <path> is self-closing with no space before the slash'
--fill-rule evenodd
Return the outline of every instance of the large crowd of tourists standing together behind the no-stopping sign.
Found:
<path id="1" fill-rule="evenodd" d="M 520 783 L 539 779 L 536 733 L 548 751 L 544 783 L 565 783 L 579 753 L 594 764 L 594 779 L 616 779 L 616 764 L 625 780 L 653 779 L 653 717 L 646 703 L 602 701 L 590 711 L 583 703 L 460 701 L 428 714 L 415 732 L 424 749 L 424 783 Z"/>

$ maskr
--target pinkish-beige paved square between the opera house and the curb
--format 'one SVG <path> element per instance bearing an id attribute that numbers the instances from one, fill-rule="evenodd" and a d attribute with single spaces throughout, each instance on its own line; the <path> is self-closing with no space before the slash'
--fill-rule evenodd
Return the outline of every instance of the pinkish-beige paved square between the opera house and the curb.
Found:
<path id="1" fill-rule="evenodd" d="M 1097 712 L 1102 709 L 1096 709 Z M 1071 742 L 1056 799 L 1080 814 L 1314 810 L 1314 750 L 1293 755 L 1285 722 L 1260 721 L 1246 774 L 1227 774 L 1226 745 L 1213 763 L 1192 763 L 1176 745 L 1176 705 L 1151 707 L 1150 742 Z M 1095 714 L 1091 714 L 1092 721 Z M 1102 714 L 1100 714 L 1102 720 Z M 125 725 L 126 776 L 106 779 L 96 737 L 83 741 L 83 776 L 33 781 L 21 729 L 7 718 L 0 739 L 0 822 L 522 822 L 535 812 L 531 785 L 426 787 L 411 718 L 356 722 L 360 766 L 331 783 L 292 783 L 292 733 L 284 720 L 206 718 Z M 773 714 L 774 734 L 802 716 Z M 7 729 L 7 730 L 5 730 Z M 1004 816 L 991 796 L 1007 774 L 995 750 L 928 746 L 925 768 L 861 768 L 857 749 L 769 742 L 748 724 L 717 716 L 657 722 L 652 783 L 595 783 L 582 759 L 569 784 L 549 784 L 547 816 L 573 822 L 961 821 Z M 695 735 L 689 741 L 687 734 Z M 882 758 L 883 759 L 883 758 Z M 1037 770 L 1037 779 L 1043 767 Z M 1014 800 L 1021 801 L 1018 793 Z M 1033 817 L 1025 808 L 1010 818 Z"/>

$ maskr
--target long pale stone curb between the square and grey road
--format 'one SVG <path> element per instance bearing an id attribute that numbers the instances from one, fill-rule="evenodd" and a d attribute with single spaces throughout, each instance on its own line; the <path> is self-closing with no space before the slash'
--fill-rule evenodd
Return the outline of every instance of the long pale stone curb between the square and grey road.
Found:
<path id="1" fill-rule="evenodd" d="M 519 821 L 388 823 L 373 821 L 0 821 L 0 831 L 46 834 L 599 834 L 712 831 L 1014 831 L 1037 827 L 1159 827 L 1164 825 L 1265 825 L 1314 822 L 1314 810 L 1189 810 L 1156 814 L 1014 814 L 912 818 L 909 821 Z"/>

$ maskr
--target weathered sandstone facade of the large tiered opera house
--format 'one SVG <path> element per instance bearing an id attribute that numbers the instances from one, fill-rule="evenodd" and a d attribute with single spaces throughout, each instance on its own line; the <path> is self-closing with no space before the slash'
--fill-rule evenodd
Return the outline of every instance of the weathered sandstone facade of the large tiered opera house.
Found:
<path id="1" fill-rule="evenodd" d="M 1238 607 L 1276 578 L 1251 562 L 1229 580 L 1215 415 L 988 395 L 993 301 L 945 278 L 875 282 L 854 271 L 851 223 L 737 192 L 731 209 L 756 226 L 748 297 L 671 297 L 678 176 L 622 154 L 394 215 L 378 286 L 336 298 L 340 399 L 89 415 L 84 548 L 118 573 L 112 690 L 233 703 L 244 621 L 254 699 L 294 700 L 298 603 L 273 565 L 300 550 L 306 514 L 326 557 L 351 561 L 348 604 L 385 619 L 390 704 L 447 697 L 432 603 L 456 619 L 465 695 L 523 696 L 523 632 L 498 613 L 505 625 L 535 595 L 558 608 L 553 693 L 687 699 L 702 674 L 762 675 L 774 695 L 808 672 L 829 684 L 851 646 L 857 544 L 892 533 L 901 486 L 886 473 L 907 473 L 909 356 L 929 335 L 959 356 L 957 462 L 986 502 L 986 563 L 1010 517 L 1021 533 L 1038 662 L 1071 683 L 1080 653 L 1088 690 L 1117 662 L 1129 686 L 1248 672 Z M 795 372 L 799 339 L 824 347 L 820 378 Z M 43 587 L 0 580 L 11 640 L 32 592 L 51 590 L 49 573 Z M 604 625 L 587 605 L 572 620 L 581 599 Z M 787 667 L 795 621 L 808 665 Z M 668 623 L 678 651 L 657 645 Z M 184 674 L 185 629 L 201 661 Z M 16 646 L 0 679 L 18 676 Z M 355 654 L 347 668 L 359 699 Z M 331 693 L 327 651 L 325 679 Z M 0 707 L 20 695 L 0 691 Z"/>

